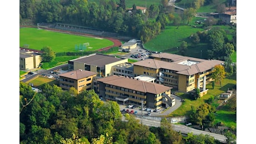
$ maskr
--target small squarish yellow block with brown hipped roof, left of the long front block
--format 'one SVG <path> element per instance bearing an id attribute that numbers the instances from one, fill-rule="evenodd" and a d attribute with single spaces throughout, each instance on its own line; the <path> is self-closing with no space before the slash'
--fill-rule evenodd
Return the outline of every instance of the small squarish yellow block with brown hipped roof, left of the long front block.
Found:
<path id="1" fill-rule="evenodd" d="M 73 70 L 60 74 L 60 87 L 63 90 L 75 88 L 78 93 L 83 90 L 93 90 L 93 78 L 97 73 L 87 70 Z"/>

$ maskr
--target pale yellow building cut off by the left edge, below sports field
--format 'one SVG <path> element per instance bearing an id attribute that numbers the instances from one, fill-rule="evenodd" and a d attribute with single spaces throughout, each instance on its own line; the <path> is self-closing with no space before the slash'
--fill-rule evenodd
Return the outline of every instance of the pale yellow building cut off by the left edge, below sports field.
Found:
<path id="1" fill-rule="evenodd" d="M 42 62 L 41 54 L 38 52 L 19 49 L 19 69 L 32 70 L 40 66 Z"/>

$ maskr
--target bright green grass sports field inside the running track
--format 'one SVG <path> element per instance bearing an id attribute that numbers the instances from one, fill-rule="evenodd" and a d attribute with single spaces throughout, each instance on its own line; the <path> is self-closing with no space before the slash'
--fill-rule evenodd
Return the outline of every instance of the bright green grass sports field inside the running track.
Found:
<path id="1" fill-rule="evenodd" d="M 86 48 L 82 47 L 84 43 L 89 43 L 89 46 Z M 85 48 L 85 51 L 94 51 L 109 47 L 114 45 L 114 43 L 111 40 L 97 37 L 65 34 L 38 28 L 20 28 L 19 47 L 24 47 L 24 45 L 28 45 L 29 49 L 36 50 L 49 46 L 54 52 L 58 53 L 77 52 L 80 48 Z"/>

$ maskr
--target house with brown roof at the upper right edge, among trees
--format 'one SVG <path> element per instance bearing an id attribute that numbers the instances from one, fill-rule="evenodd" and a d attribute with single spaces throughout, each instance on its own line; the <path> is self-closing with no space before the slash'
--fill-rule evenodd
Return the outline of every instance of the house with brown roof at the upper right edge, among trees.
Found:
<path id="1" fill-rule="evenodd" d="M 237 7 L 226 8 L 224 13 L 219 14 L 219 18 L 226 24 L 237 23 Z"/>

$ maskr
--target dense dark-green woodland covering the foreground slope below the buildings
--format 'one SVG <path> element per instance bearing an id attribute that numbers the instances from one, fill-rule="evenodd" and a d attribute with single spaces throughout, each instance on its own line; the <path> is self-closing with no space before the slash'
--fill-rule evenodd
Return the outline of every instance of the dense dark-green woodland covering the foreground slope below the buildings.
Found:
<path id="1" fill-rule="evenodd" d="M 183 137 L 166 119 L 160 127 L 141 125 L 131 114 L 122 121 L 117 102 L 103 102 L 93 90 L 77 94 L 49 84 L 40 89 L 19 85 L 20 143 L 219 143 L 209 135 Z"/>

